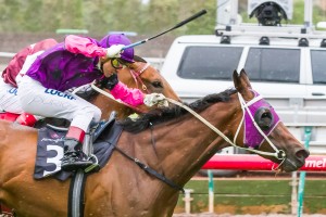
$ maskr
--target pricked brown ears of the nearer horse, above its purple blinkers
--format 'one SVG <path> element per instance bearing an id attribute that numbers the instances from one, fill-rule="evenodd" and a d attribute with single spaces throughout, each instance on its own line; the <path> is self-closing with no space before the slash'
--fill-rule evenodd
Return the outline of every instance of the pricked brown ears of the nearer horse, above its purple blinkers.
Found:
<path id="1" fill-rule="evenodd" d="M 237 71 L 234 72 L 234 82 L 236 89 L 242 94 L 243 99 L 250 100 L 253 97 L 249 78 L 243 68 L 241 69 L 240 74 L 238 74 Z"/>

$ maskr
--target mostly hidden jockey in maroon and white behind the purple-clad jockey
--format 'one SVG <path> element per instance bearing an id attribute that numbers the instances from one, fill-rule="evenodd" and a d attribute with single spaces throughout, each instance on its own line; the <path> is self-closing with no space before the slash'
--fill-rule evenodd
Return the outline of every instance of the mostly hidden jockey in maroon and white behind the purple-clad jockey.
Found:
<path id="1" fill-rule="evenodd" d="M 45 39 L 22 49 L 13 56 L 7 68 L 2 72 L 3 79 L 0 79 L 0 108 L 5 112 L 14 113 L 7 114 L 8 117 L 12 116 L 10 119 L 15 119 L 15 122 L 21 125 L 32 127 L 37 119 L 41 118 L 23 111 L 16 94 L 16 76 L 18 74 L 25 74 L 37 55 L 57 43 L 54 39 Z"/>

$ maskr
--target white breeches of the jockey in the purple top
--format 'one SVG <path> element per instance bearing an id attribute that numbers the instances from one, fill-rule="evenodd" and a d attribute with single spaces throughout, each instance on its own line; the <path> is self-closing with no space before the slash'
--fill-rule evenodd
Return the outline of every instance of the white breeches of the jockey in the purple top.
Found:
<path id="1" fill-rule="evenodd" d="M 87 131 L 91 120 L 99 122 L 101 110 L 76 94 L 45 88 L 29 76 L 18 82 L 17 97 L 22 108 L 43 117 L 58 117 L 71 120 L 71 126 Z"/>

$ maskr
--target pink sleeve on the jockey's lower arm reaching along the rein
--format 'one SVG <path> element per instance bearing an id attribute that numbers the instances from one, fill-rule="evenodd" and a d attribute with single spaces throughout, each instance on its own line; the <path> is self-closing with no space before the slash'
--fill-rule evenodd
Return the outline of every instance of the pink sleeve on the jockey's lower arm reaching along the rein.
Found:
<path id="1" fill-rule="evenodd" d="M 137 106 L 143 104 L 145 94 L 139 89 L 128 88 L 121 81 L 110 92 L 115 99 L 120 99 L 129 105 Z"/>

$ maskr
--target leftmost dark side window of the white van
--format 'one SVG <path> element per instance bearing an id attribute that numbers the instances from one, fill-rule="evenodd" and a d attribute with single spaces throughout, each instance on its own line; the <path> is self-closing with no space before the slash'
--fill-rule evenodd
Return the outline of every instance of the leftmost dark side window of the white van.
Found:
<path id="1" fill-rule="evenodd" d="M 187 47 L 177 74 L 183 78 L 231 80 L 242 50 L 241 47 Z"/>

